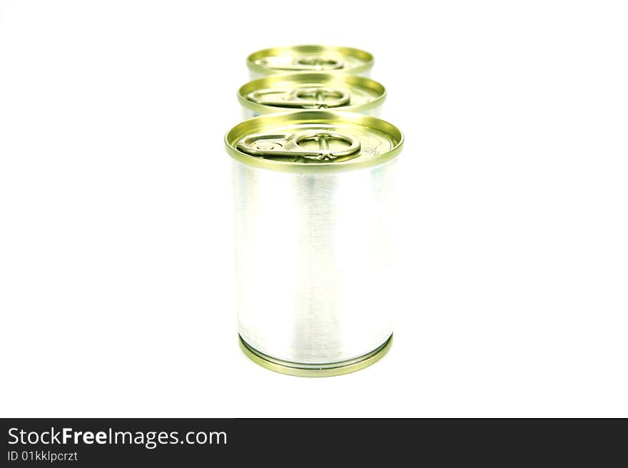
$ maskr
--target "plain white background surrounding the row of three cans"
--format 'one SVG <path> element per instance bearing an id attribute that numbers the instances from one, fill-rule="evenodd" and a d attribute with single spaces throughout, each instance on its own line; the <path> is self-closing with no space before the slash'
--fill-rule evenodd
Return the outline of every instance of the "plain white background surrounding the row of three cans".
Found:
<path id="1" fill-rule="evenodd" d="M 628 416 L 623 2 L 0 5 L 1 416 Z M 303 43 L 407 138 L 395 344 L 328 379 L 236 341 L 223 135 Z"/>

